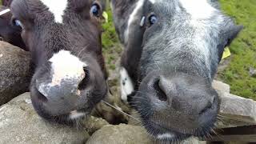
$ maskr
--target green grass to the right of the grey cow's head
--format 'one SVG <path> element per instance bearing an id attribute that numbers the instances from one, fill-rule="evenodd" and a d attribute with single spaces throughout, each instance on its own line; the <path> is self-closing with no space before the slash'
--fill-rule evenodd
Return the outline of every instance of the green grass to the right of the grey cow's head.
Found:
<path id="1" fill-rule="evenodd" d="M 220 2 L 222 10 L 243 25 L 244 29 L 230 46 L 230 65 L 218 73 L 218 78 L 230 85 L 230 93 L 256 100 L 256 78 L 249 74 L 250 67 L 256 69 L 256 1 Z"/>

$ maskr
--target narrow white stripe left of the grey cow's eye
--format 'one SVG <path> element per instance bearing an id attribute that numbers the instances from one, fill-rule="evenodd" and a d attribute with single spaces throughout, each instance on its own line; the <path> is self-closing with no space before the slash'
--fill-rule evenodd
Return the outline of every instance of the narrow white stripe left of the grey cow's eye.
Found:
<path id="1" fill-rule="evenodd" d="M 125 42 L 128 42 L 129 33 L 130 33 L 130 30 L 129 30 L 130 29 L 130 24 L 132 22 L 134 22 L 134 18 L 136 18 L 137 14 L 138 14 L 138 10 L 142 8 L 144 1 L 145 0 L 138 0 L 133 12 L 129 16 L 127 28 L 126 28 L 126 31 L 125 31 Z"/>

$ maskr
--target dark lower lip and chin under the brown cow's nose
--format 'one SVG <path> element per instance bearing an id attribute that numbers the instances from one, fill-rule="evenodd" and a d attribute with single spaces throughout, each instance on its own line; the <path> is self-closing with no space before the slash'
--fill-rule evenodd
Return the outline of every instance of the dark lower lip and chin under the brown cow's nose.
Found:
<path id="1" fill-rule="evenodd" d="M 59 124 L 68 124 L 68 125 L 76 125 L 78 122 L 81 122 L 82 119 L 87 118 L 90 115 L 90 112 L 93 110 L 94 105 L 97 102 L 93 101 L 93 98 L 98 97 L 102 99 L 107 94 L 106 90 L 94 90 L 92 88 L 86 90 L 79 90 L 78 102 L 74 105 L 74 107 L 67 108 L 67 110 L 58 112 L 53 114 L 50 110 L 51 108 L 47 108 L 45 104 L 49 101 L 42 93 L 40 93 L 35 85 L 30 86 L 32 98 L 32 104 L 34 106 L 34 110 L 44 119 L 49 120 L 50 122 L 57 122 Z"/>

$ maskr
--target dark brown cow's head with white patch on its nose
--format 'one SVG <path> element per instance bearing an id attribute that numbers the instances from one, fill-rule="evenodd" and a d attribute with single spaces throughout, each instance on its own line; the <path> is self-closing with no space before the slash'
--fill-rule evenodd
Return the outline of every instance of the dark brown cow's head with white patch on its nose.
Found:
<path id="1" fill-rule="evenodd" d="M 106 95 L 102 5 L 97 0 L 14 0 L 13 22 L 35 65 L 34 109 L 55 122 L 85 117 Z"/>

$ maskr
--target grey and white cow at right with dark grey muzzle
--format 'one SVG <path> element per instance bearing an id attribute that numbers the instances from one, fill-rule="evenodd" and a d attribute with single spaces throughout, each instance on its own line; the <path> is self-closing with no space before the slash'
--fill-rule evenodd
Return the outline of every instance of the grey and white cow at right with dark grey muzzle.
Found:
<path id="1" fill-rule="evenodd" d="M 242 26 L 217 0 L 112 0 L 112 9 L 125 46 L 122 100 L 129 96 L 154 138 L 210 133 L 219 110 L 211 82 Z"/>

